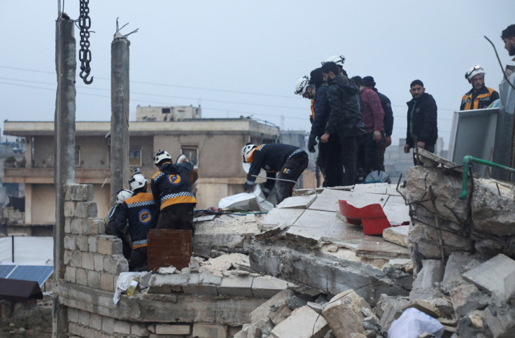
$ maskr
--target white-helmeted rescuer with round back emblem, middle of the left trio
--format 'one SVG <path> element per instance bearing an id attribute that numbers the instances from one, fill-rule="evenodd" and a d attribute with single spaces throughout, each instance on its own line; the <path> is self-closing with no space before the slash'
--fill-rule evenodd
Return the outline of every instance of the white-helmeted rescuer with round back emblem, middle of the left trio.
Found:
<path id="1" fill-rule="evenodd" d="M 129 185 L 134 195 L 120 204 L 121 215 L 117 217 L 117 226 L 122 229 L 125 222 L 129 222 L 127 230 L 132 241 L 129 271 L 146 271 L 147 234 L 157 225 L 159 205 L 155 203 L 153 195 L 147 192 L 148 180 L 139 168 L 134 169 L 133 173 Z"/>

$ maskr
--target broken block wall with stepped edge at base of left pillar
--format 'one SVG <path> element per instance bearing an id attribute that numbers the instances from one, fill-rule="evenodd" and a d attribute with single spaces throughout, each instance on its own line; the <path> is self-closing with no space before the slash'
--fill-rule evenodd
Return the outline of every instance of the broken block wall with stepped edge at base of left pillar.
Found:
<path id="1" fill-rule="evenodd" d="M 115 283 L 121 272 L 128 271 L 128 263 L 122 255 L 120 239 L 105 234 L 105 221 L 97 218 L 97 205 L 92 200 L 92 185 L 66 185 L 66 270 L 64 281 L 59 281 L 53 293 L 59 305 L 67 308 L 65 327 L 69 336 L 226 338 L 241 330 L 241 324 L 202 322 L 194 308 L 202 308 L 204 302 L 209 304 L 204 295 L 190 295 L 184 300 L 181 297 L 186 296 L 181 294 L 122 295 L 120 303 L 114 305 Z M 213 301 L 232 302 L 219 296 L 214 296 Z M 257 303 L 255 307 L 261 304 Z M 190 319 L 183 317 L 186 323 L 177 322 L 177 306 L 190 314 Z"/>

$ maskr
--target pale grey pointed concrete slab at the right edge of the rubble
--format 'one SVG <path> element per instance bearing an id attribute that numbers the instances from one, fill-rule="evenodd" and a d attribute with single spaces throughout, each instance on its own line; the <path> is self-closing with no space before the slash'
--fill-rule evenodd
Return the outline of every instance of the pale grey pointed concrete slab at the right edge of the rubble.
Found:
<path id="1" fill-rule="evenodd" d="M 499 254 L 465 272 L 463 278 L 490 295 L 499 293 L 508 300 L 515 293 L 515 260 Z"/>

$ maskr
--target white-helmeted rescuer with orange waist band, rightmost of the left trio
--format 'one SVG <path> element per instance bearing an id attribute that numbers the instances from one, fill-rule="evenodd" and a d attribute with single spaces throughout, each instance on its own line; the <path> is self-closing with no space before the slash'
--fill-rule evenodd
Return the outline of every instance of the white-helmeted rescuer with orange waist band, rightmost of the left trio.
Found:
<path id="1" fill-rule="evenodd" d="M 188 178 L 194 167 L 192 162 L 172 164 L 170 154 L 159 150 L 154 155 L 154 164 L 159 171 L 152 176 L 150 187 L 161 210 L 157 229 L 193 232 L 193 210 L 197 199 L 191 192 Z"/>

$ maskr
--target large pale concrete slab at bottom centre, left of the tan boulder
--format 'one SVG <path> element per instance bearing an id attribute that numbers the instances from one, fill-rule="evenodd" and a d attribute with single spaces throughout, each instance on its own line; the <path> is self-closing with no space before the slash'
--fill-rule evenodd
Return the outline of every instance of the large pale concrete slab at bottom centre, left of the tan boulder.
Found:
<path id="1" fill-rule="evenodd" d="M 305 305 L 295 309 L 291 316 L 278 323 L 270 333 L 274 338 L 322 338 L 328 330 L 329 325 L 323 316 Z"/>

